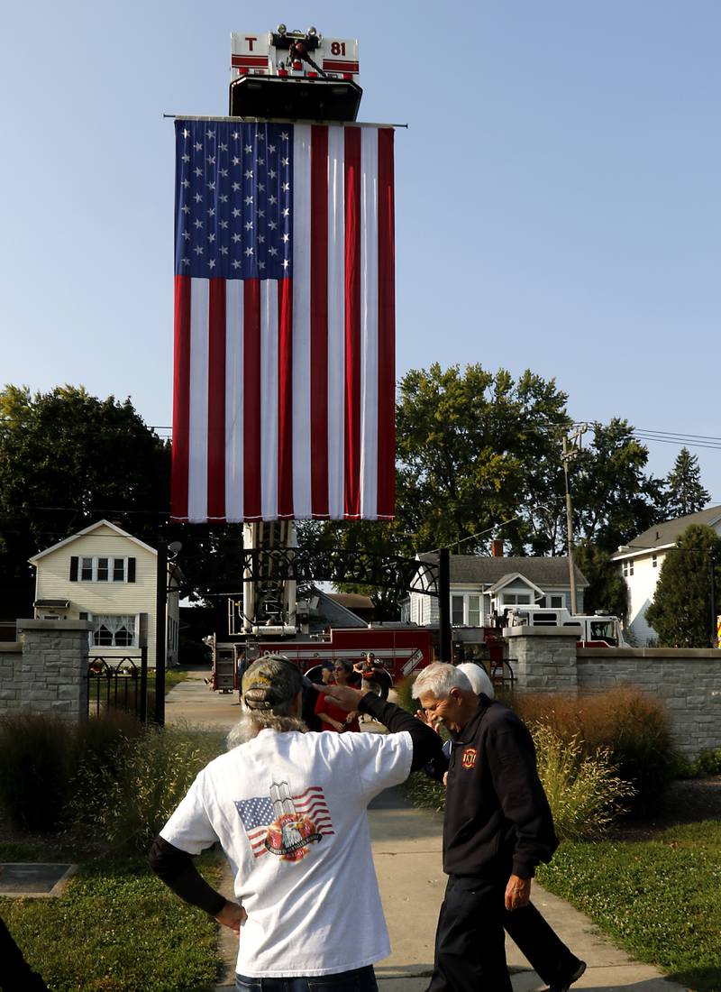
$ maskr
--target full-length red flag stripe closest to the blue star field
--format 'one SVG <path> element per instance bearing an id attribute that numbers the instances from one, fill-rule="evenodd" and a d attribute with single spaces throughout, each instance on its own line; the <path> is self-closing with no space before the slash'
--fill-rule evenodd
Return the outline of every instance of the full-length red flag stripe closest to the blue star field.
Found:
<path id="1" fill-rule="evenodd" d="M 328 515 L 328 129 L 310 137 L 310 505 Z"/>

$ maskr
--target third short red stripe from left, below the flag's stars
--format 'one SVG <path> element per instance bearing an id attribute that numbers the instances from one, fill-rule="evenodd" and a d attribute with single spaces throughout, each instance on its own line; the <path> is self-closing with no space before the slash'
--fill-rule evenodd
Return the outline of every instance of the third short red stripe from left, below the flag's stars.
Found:
<path id="1" fill-rule="evenodd" d="M 243 516 L 261 519 L 261 285 L 243 283 Z"/>

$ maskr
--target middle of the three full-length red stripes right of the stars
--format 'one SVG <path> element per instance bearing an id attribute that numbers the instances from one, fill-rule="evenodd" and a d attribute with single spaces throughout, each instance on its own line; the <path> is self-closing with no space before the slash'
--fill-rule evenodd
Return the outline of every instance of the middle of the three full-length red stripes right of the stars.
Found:
<path id="1" fill-rule="evenodd" d="M 345 515 L 360 515 L 361 131 L 345 128 Z"/>

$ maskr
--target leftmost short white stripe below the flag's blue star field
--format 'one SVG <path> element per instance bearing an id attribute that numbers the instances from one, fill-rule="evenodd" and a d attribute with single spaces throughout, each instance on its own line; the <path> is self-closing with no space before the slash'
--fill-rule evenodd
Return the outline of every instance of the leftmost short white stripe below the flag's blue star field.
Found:
<path id="1" fill-rule="evenodd" d="M 187 517 L 207 520 L 208 500 L 208 306 L 207 279 L 190 280 L 190 402 Z"/>

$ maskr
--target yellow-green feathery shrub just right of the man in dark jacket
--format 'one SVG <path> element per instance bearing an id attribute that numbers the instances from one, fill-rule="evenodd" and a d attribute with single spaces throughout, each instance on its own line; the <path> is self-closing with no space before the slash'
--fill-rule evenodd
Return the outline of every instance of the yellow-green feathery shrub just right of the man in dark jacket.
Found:
<path id="1" fill-rule="evenodd" d="M 560 840 L 600 837 L 634 789 L 614 774 L 607 750 L 586 754 L 578 737 L 561 739 L 537 724 L 539 777 Z"/>

